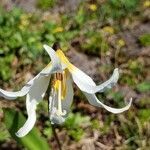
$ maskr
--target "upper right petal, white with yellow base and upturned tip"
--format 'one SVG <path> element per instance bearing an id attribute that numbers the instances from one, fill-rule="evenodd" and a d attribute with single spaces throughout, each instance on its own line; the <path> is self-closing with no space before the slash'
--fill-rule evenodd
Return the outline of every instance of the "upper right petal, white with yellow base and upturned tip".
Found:
<path id="1" fill-rule="evenodd" d="M 57 51 L 56 53 L 61 60 L 62 66 L 67 67 L 69 72 L 72 74 L 74 82 L 84 92 L 87 93 L 103 92 L 105 89 L 111 88 L 118 81 L 119 72 L 118 68 L 116 68 L 113 72 L 113 75 L 108 81 L 104 82 L 101 85 L 96 86 L 95 82 L 88 75 L 86 75 L 83 71 L 81 71 L 80 69 L 78 69 L 69 62 L 69 60 L 61 50 Z"/>

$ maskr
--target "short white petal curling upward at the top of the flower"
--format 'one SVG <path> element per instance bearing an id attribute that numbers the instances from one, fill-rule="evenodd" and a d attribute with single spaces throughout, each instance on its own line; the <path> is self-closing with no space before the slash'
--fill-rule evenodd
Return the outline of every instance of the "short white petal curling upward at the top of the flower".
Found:
<path id="1" fill-rule="evenodd" d="M 49 47 L 48 45 L 43 46 L 44 49 L 47 51 L 51 58 L 51 63 L 48 64 L 42 71 L 41 75 L 49 75 L 51 73 L 61 72 L 62 66 L 59 57 L 57 56 L 56 52 Z"/>

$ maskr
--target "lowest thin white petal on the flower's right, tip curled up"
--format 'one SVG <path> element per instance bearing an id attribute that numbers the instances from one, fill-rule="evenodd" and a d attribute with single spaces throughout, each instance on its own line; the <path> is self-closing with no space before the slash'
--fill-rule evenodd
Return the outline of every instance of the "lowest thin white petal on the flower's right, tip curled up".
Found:
<path id="1" fill-rule="evenodd" d="M 102 102 L 100 102 L 95 94 L 88 94 L 86 92 L 83 92 L 83 93 L 91 105 L 94 105 L 97 107 L 104 107 L 106 110 L 108 110 L 109 112 L 112 112 L 114 114 L 122 113 L 122 112 L 128 110 L 131 106 L 131 103 L 132 103 L 132 98 L 130 98 L 130 102 L 125 107 L 123 107 L 123 108 L 112 108 L 112 107 L 109 107 L 109 106 L 103 104 Z"/>

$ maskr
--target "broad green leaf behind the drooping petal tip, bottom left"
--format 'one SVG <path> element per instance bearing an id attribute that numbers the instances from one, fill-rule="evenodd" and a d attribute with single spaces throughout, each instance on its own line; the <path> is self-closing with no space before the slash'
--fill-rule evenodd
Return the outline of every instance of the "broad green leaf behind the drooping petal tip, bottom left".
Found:
<path id="1" fill-rule="evenodd" d="M 11 136 L 21 145 L 28 150 L 49 150 L 46 139 L 40 136 L 40 132 L 33 128 L 32 131 L 23 138 L 18 138 L 15 133 L 25 123 L 25 117 L 14 110 L 3 109 L 4 112 L 4 123 L 9 130 Z"/>

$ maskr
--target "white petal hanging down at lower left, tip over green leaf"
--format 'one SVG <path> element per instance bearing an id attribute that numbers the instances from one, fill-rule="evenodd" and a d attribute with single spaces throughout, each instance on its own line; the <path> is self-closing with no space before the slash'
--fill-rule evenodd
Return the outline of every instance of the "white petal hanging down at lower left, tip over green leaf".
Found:
<path id="1" fill-rule="evenodd" d="M 16 133 L 18 137 L 23 137 L 29 133 L 36 121 L 36 105 L 42 100 L 48 87 L 50 76 L 38 76 L 27 94 L 26 108 L 28 119 L 22 128 Z"/>

